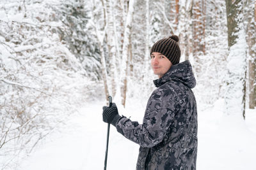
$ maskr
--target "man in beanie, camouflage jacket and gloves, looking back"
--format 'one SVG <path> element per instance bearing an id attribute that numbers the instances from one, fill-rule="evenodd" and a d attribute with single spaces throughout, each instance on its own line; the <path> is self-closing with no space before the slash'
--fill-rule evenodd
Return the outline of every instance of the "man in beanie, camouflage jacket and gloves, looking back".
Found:
<path id="1" fill-rule="evenodd" d="M 140 145 L 136 169 L 196 169 L 196 80 L 188 60 L 179 63 L 179 38 L 160 39 L 151 48 L 151 66 L 159 79 L 148 99 L 143 124 L 118 115 L 116 104 L 103 107 L 103 121 Z"/>

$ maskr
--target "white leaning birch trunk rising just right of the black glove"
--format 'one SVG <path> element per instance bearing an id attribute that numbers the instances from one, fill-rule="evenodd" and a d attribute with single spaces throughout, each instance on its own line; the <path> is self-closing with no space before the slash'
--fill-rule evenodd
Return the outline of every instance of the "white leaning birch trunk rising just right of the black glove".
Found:
<path id="1" fill-rule="evenodd" d="M 131 24 L 132 24 L 132 14 L 133 14 L 133 4 L 134 0 L 129 1 L 129 8 L 125 23 L 125 30 L 124 30 L 124 45 L 123 45 L 123 53 L 122 53 L 122 80 L 121 80 L 121 98 L 122 104 L 125 107 L 126 101 L 126 92 L 127 92 L 127 76 L 129 71 L 129 45 L 131 43 Z"/>

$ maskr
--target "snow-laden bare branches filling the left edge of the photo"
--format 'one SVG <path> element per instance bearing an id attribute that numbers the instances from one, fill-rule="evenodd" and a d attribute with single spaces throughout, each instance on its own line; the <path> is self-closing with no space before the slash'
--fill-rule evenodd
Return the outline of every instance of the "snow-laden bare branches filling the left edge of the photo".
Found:
<path id="1" fill-rule="evenodd" d="M 83 65 L 61 41 L 54 1 L 1 1 L 0 167 L 13 167 L 90 94 Z M 7 4 L 7 5 L 6 5 Z M 76 82 L 76 84 L 74 84 Z M 82 89 L 82 90 L 81 90 Z M 78 95 L 80 94 L 80 95 Z"/>

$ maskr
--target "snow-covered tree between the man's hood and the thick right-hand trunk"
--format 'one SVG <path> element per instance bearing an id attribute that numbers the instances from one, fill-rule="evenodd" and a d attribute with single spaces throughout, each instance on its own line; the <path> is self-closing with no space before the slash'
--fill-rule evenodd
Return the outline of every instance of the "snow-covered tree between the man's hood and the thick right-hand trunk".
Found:
<path id="1" fill-rule="evenodd" d="M 227 15 L 225 1 L 206 2 L 205 55 L 200 57 L 201 72 L 197 73 L 198 101 L 213 104 L 224 97 L 227 65 Z M 207 93 L 205 93 L 207 91 Z"/>

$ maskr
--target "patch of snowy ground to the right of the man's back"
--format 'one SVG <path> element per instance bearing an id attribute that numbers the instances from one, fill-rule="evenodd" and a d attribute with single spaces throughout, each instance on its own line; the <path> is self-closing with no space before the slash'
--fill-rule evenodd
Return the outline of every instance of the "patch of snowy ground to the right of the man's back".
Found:
<path id="1" fill-rule="evenodd" d="M 226 115 L 224 101 L 198 115 L 198 169 L 253 169 L 256 152 L 256 126 L 246 110 L 246 121 Z M 220 107 L 218 107 L 220 106 Z"/>

